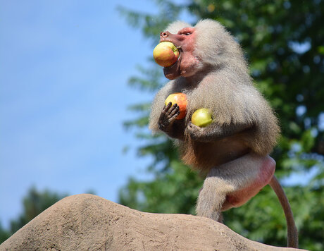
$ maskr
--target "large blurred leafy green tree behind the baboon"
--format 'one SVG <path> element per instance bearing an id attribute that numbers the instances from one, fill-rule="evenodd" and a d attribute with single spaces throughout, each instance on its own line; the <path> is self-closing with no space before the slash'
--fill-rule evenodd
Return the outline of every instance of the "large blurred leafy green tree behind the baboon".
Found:
<path id="1" fill-rule="evenodd" d="M 181 4 L 156 0 L 158 15 L 136 13 L 120 7 L 120 12 L 135 27 L 158 43 L 158 33 L 167 23 L 186 13 L 194 20 L 212 18 L 232 32 L 245 51 L 256 87 L 278 114 L 282 137 L 271 154 L 277 161 L 276 176 L 297 182 L 285 191 L 292 204 L 300 247 L 323 250 L 324 224 L 324 3 L 312 1 L 237 1 L 188 0 Z M 153 49 L 153 48 L 152 48 Z M 152 61 L 151 61 L 152 62 Z M 166 80 L 161 68 L 152 62 L 140 68 L 130 85 L 149 91 L 152 97 Z M 201 178 L 183 165 L 164 135 L 147 131 L 149 102 L 130 107 L 139 113 L 136 128 L 146 144 L 139 156 L 153 157 L 147 171 L 153 180 L 131 178 L 120 190 L 120 202 L 145 212 L 194 214 Z M 313 176 L 307 178 L 307 173 Z M 304 178 L 305 177 L 305 178 Z M 270 245 L 285 245 L 285 218 L 275 194 L 264 188 L 243 207 L 225 214 L 225 224 L 252 240 Z"/>

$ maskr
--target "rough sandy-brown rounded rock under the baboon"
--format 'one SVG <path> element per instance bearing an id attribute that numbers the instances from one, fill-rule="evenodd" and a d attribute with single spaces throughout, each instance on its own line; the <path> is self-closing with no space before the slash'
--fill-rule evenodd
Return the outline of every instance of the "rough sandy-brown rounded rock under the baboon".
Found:
<path id="1" fill-rule="evenodd" d="M 0 250 L 296 250 L 257 243 L 211 219 L 149 214 L 95 195 L 57 202 Z"/>

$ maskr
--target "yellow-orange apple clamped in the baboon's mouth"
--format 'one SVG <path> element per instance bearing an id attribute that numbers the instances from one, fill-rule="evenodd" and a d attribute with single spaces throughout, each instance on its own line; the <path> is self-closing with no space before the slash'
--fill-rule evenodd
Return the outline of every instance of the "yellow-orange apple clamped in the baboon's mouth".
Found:
<path id="1" fill-rule="evenodd" d="M 159 66 L 172 66 L 177 61 L 180 53 L 171 42 L 161 42 L 153 50 L 153 57 Z"/>

